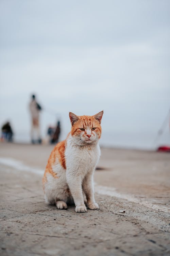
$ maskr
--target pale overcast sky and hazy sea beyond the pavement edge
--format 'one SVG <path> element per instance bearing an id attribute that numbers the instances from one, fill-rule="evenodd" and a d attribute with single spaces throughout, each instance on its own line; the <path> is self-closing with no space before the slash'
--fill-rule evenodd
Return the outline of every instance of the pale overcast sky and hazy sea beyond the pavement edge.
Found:
<path id="1" fill-rule="evenodd" d="M 0 125 L 15 142 L 30 142 L 35 94 L 42 138 L 60 120 L 65 139 L 69 111 L 104 110 L 101 145 L 170 144 L 170 1 L 1 0 L 0 34 Z"/>

